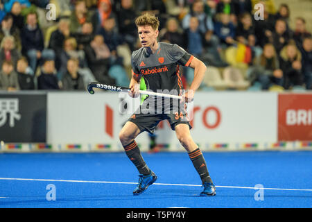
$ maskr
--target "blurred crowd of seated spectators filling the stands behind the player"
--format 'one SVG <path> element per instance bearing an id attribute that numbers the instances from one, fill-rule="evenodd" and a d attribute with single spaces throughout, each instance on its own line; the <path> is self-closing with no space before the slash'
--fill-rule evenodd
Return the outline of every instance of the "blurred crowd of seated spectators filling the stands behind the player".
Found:
<path id="1" fill-rule="evenodd" d="M 84 90 L 89 81 L 128 86 L 131 53 L 141 47 L 135 18 L 146 12 L 160 20 L 160 42 L 205 62 L 202 90 L 312 89 L 311 21 L 304 10 L 291 17 L 287 3 L 1 0 L 0 90 Z M 187 88 L 193 69 L 181 74 Z"/>

